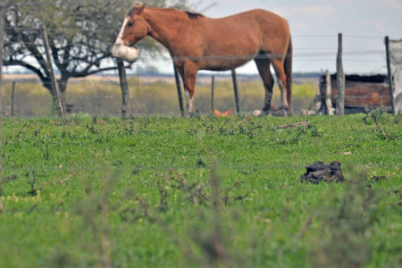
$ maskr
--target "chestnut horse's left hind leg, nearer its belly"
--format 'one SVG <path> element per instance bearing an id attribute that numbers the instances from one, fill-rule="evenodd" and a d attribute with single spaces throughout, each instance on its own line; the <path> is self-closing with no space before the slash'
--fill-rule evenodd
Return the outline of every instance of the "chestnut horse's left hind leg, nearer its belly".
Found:
<path id="1" fill-rule="evenodd" d="M 255 64 L 257 70 L 261 76 L 264 83 L 265 97 L 264 97 L 264 107 L 260 114 L 255 113 L 255 115 L 271 115 L 271 101 L 272 101 L 272 88 L 273 88 L 273 76 L 270 69 L 269 59 L 255 59 Z M 256 112 L 256 111 L 255 111 Z"/>

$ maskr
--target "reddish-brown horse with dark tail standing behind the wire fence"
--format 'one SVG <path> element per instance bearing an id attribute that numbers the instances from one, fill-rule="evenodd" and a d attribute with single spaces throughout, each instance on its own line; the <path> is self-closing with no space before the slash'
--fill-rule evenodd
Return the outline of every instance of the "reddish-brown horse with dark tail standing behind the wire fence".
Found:
<path id="1" fill-rule="evenodd" d="M 291 113 L 292 45 L 289 25 L 280 16 L 252 10 L 222 19 L 175 9 L 146 8 L 136 4 L 127 13 L 116 44 L 134 46 L 150 36 L 172 56 L 186 89 L 188 114 L 198 70 L 226 71 L 254 59 L 264 82 L 262 115 L 271 113 L 272 64 L 281 89 L 281 109 Z"/>

